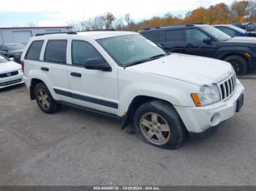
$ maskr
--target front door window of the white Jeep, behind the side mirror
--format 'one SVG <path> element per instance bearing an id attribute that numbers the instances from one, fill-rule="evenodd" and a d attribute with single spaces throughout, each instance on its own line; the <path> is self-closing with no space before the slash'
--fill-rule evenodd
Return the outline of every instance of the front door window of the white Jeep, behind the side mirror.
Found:
<path id="1" fill-rule="evenodd" d="M 88 42 L 72 41 L 72 64 L 84 66 L 87 59 L 98 58 L 104 61 L 102 55 Z"/>

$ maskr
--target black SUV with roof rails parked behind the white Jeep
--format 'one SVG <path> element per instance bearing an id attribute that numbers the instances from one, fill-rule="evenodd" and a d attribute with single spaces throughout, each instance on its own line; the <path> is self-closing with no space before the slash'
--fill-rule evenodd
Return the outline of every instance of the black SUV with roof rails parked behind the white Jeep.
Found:
<path id="1" fill-rule="evenodd" d="M 201 55 L 227 61 L 236 74 L 256 69 L 256 38 L 230 37 L 203 24 L 184 24 L 146 28 L 139 33 L 168 52 Z"/>

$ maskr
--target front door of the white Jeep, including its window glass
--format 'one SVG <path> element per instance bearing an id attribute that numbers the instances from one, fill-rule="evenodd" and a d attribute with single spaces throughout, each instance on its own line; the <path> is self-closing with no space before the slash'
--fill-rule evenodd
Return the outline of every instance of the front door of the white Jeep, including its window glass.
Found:
<path id="1" fill-rule="evenodd" d="M 89 42 L 73 39 L 70 45 L 69 81 L 72 103 L 110 114 L 118 113 L 117 69 L 111 71 L 86 69 L 87 59 L 106 61 Z M 107 61 L 108 62 L 108 61 Z"/>

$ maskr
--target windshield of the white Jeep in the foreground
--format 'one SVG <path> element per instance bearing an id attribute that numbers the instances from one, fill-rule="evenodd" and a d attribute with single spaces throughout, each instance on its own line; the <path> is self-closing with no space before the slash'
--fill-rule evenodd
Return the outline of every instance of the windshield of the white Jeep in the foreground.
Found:
<path id="1" fill-rule="evenodd" d="M 114 36 L 98 39 L 97 42 L 122 67 L 151 61 L 167 55 L 157 44 L 140 34 Z"/>

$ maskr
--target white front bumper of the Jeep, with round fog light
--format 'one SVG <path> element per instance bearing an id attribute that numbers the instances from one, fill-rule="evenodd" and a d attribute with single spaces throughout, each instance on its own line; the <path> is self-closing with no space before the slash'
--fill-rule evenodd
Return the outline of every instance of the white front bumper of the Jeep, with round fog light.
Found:
<path id="1" fill-rule="evenodd" d="M 234 116 L 236 101 L 244 93 L 244 86 L 237 80 L 236 91 L 225 101 L 201 107 L 175 106 L 189 133 L 203 133 Z"/>

